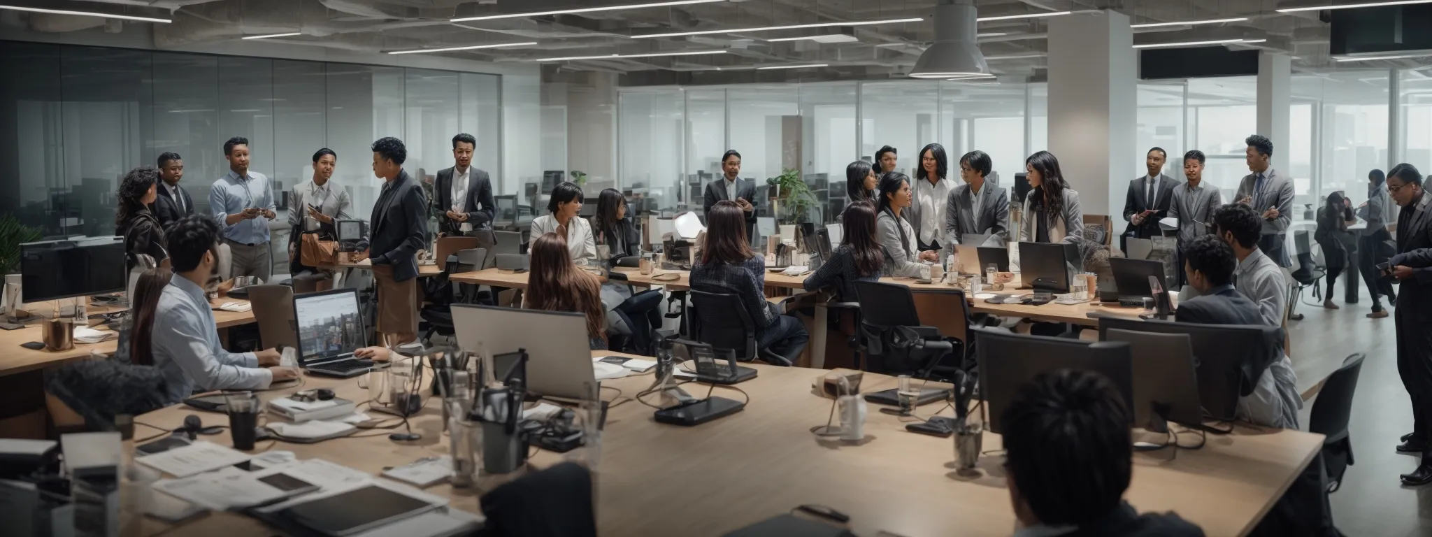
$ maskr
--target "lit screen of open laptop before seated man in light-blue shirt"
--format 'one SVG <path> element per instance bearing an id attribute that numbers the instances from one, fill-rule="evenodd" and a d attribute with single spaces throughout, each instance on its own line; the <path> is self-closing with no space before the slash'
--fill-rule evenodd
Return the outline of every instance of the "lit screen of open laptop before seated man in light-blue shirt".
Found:
<path id="1" fill-rule="evenodd" d="M 294 296 L 294 319 L 302 362 L 352 354 L 364 344 L 357 289 Z"/>

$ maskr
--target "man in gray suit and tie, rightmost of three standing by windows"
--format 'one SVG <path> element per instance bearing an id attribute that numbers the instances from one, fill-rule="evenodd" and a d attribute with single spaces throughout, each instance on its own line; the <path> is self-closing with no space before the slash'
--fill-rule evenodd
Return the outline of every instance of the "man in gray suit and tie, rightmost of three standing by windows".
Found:
<path id="1" fill-rule="evenodd" d="M 1287 225 L 1293 221 L 1293 182 L 1273 169 L 1273 142 L 1263 135 L 1249 136 L 1249 173 L 1233 195 L 1239 203 L 1253 208 L 1263 218 L 1259 249 L 1279 266 L 1292 266 L 1285 248 Z"/>

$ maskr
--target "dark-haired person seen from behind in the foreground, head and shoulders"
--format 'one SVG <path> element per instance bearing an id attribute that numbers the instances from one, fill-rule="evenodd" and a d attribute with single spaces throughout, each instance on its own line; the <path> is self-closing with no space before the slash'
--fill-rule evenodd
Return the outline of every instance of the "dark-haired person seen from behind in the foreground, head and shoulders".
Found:
<path id="1" fill-rule="evenodd" d="M 1133 420 L 1103 375 L 1042 374 L 1002 418 L 1015 537 L 1203 536 L 1177 514 L 1138 514 L 1123 500 L 1134 465 Z"/>

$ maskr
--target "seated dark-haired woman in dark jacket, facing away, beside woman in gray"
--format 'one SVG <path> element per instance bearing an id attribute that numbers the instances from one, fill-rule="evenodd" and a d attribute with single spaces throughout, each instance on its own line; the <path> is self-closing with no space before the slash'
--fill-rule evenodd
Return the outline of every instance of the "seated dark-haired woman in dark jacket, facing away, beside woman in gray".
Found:
<path id="1" fill-rule="evenodd" d="M 832 286 L 838 301 L 853 302 L 855 282 L 881 279 L 885 265 L 885 255 L 875 241 L 875 203 L 859 200 L 846 206 L 841 213 L 841 246 L 821 269 L 806 276 L 802 286 L 806 291 Z"/>

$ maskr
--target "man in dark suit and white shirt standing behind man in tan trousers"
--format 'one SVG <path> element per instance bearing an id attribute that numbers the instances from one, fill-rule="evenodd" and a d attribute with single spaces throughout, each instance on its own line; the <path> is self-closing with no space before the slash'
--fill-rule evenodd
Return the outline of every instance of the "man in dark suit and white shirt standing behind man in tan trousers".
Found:
<path id="1" fill-rule="evenodd" d="M 473 168 L 475 147 L 473 135 L 453 136 L 454 166 L 438 170 L 432 185 L 432 209 L 440 215 L 438 235 L 464 235 L 493 223 L 493 180 L 487 172 Z"/>

